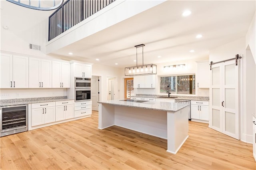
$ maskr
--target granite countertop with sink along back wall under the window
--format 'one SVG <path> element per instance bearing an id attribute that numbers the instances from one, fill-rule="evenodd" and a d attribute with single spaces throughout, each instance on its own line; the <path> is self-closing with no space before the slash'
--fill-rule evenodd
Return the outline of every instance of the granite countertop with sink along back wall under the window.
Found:
<path id="1" fill-rule="evenodd" d="M 148 97 L 148 98 L 158 98 L 160 96 L 166 96 L 167 95 L 143 95 L 143 94 L 137 94 L 136 96 L 132 97 Z M 177 98 L 158 98 L 158 99 L 175 99 L 175 100 L 196 100 L 196 101 L 209 101 L 209 97 L 202 97 L 202 96 L 178 96 L 178 95 L 170 95 L 171 97 L 177 97 Z"/>

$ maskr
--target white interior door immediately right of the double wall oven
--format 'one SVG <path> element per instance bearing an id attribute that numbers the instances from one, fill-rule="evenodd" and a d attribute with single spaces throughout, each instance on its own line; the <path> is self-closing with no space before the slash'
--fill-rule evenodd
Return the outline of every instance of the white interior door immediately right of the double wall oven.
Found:
<path id="1" fill-rule="evenodd" d="M 93 111 L 98 111 L 99 110 L 99 81 L 100 77 L 98 76 L 92 76 L 91 79 L 91 99 L 92 99 L 92 110 Z"/>

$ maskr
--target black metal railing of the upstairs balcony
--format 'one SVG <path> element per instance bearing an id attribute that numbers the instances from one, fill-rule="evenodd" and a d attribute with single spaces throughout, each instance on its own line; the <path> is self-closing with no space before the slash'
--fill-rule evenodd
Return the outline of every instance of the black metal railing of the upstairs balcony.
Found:
<path id="1" fill-rule="evenodd" d="M 67 0 L 49 16 L 48 41 L 116 0 Z"/>

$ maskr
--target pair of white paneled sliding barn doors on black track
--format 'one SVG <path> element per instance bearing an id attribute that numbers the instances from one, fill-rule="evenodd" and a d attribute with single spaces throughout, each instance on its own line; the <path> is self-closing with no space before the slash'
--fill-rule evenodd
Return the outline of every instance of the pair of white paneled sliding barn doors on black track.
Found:
<path id="1" fill-rule="evenodd" d="M 214 64 L 210 77 L 209 127 L 236 139 L 240 139 L 238 68 L 234 60 Z"/>

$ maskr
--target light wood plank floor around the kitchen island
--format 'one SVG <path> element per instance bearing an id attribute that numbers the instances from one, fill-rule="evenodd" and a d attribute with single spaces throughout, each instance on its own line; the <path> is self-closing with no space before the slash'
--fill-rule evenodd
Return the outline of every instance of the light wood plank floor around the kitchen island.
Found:
<path id="1" fill-rule="evenodd" d="M 256 169 L 252 144 L 189 123 L 177 154 L 166 140 L 120 127 L 98 130 L 92 117 L 1 137 L 2 170 L 9 169 Z"/>

